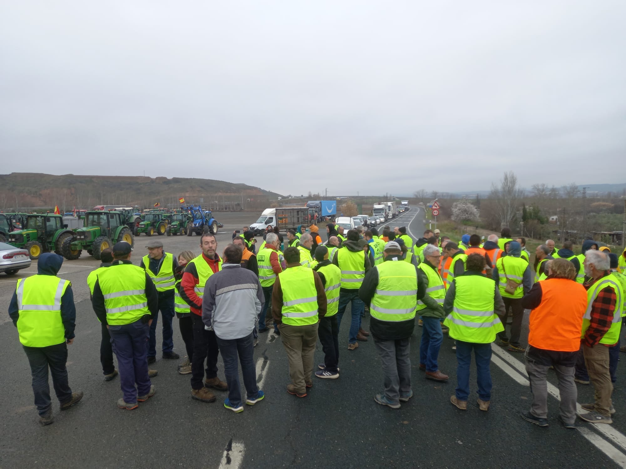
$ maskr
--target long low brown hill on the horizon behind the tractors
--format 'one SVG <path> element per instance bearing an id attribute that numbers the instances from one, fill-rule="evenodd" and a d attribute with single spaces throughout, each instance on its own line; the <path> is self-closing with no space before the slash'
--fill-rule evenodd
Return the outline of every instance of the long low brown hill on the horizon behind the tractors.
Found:
<path id="1" fill-rule="evenodd" d="M 150 178 L 146 176 L 81 176 L 75 174 L 0 174 L 0 207 L 47 207 L 61 210 L 73 206 L 91 208 L 98 204 L 128 204 L 143 208 L 186 203 L 209 204 L 252 202 L 275 199 L 279 194 L 247 184 L 216 179 Z M 261 204 L 263 204 L 261 203 Z"/>

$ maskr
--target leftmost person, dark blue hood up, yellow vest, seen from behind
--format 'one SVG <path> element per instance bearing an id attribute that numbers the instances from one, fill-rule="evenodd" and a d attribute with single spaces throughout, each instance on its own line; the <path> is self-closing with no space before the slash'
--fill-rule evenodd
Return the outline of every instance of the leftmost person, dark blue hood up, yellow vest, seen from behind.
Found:
<path id="1" fill-rule="evenodd" d="M 19 341 L 31 365 L 34 401 L 39 423 L 53 423 L 48 368 L 54 392 L 66 410 L 83 398 L 83 392 L 69 388 L 68 345 L 74 341 L 76 306 L 69 280 L 58 278 L 63 258 L 44 253 L 37 263 L 37 275 L 18 280 L 9 305 L 9 316 L 18 328 Z"/>

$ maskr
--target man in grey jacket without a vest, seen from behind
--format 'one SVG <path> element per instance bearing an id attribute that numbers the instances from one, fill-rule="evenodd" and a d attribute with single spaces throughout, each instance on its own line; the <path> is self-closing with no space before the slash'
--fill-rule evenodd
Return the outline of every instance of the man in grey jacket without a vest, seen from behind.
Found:
<path id="1" fill-rule="evenodd" d="M 259 278 L 252 271 L 241 268 L 241 256 L 239 247 L 226 246 L 222 270 L 208 278 L 202 300 L 202 321 L 205 328 L 215 331 L 224 360 L 228 384 L 224 407 L 234 412 L 244 410 L 237 358 L 241 362 L 247 391 L 245 403 L 254 405 L 264 398 L 263 391 L 257 386 L 252 331 L 265 300 Z"/>

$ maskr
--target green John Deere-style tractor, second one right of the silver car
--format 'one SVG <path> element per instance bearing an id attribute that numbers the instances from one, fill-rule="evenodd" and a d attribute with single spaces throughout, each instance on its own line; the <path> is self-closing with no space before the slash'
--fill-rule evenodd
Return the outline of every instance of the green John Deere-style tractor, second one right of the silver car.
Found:
<path id="1" fill-rule="evenodd" d="M 100 253 L 113 248 L 115 243 L 126 241 L 135 245 L 135 237 L 123 223 L 120 212 L 88 211 L 85 214 L 85 227 L 75 229 L 73 236 L 63 240 L 63 257 L 68 260 L 80 258 L 83 249 L 100 260 Z"/>

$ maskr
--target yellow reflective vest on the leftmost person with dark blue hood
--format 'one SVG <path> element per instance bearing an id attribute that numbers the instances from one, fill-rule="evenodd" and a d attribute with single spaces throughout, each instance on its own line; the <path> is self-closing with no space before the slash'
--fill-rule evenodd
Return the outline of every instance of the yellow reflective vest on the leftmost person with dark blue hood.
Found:
<path id="1" fill-rule="evenodd" d="M 22 345 L 47 347 L 65 341 L 61 298 L 69 285 L 69 280 L 54 275 L 33 275 L 18 280 L 17 326 Z"/>

